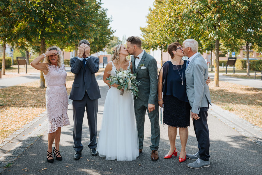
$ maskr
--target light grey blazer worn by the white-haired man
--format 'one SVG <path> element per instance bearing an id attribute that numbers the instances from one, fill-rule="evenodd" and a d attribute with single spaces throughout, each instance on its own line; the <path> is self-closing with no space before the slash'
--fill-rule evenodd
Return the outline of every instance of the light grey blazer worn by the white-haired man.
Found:
<path id="1" fill-rule="evenodd" d="M 205 59 L 199 53 L 185 70 L 187 97 L 193 113 L 199 114 L 202 107 L 211 105 L 210 92 L 206 80 L 208 79 L 208 66 Z"/>

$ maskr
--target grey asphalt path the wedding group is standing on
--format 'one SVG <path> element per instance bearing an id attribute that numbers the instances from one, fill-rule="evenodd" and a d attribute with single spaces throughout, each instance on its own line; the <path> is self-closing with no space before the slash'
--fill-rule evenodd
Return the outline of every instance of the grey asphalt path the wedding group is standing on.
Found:
<path id="1" fill-rule="evenodd" d="M 98 134 L 100 125 L 102 122 L 103 106 L 108 87 L 102 80 L 98 81 L 102 98 L 99 99 L 98 108 Z M 256 134 L 255 139 L 259 140 L 261 131 L 255 129 L 249 124 L 243 125 L 245 122 L 237 120 L 236 117 L 230 113 L 224 113 L 219 107 L 210 106 L 208 125 L 210 130 L 210 167 L 202 169 L 190 169 L 186 166 L 187 163 L 193 162 L 193 160 L 187 159 L 185 162 L 178 162 L 178 157 L 172 157 L 171 159 L 163 159 L 164 155 L 169 150 L 169 139 L 167 136 L 167 126 L 160 124 L 161 138 L 159 147 L 159 160 L 156 162 L 151 161 L 150 145 L 150 121 L 148 115 L 145 120 L 145 137 L 144 137 L 144 149 L 143 153 L 137 157 L 137 160 L 132 162 L 117 162 L 106 161 L 102 157 L 93 157 L 90 154 L 90 150 L 87 145 L 89 142 L 89 130 L 86 117 L 83 122 L 82 143 L 84 150 L 82 151 L 82 157 L 80 160 L 74 160 L 73 150 L 73 120 L 72 120 L 72 103 L 69 101 L 68 116 L 71 122 L 70 126 L 62 128 L 61 133 L 61 155 L 63 161 L 54 160 L 53 164 L 46 161 L 47 150 L 47 133 L 44 132 L 43 136 L 34 137 L 34 133 L 41 134 L 41 129 L 46 128 L 45 114 L 43 118 L 40 118 L 34 126 L 38 125 L 38 122 L 43 122 L 41 126 L 31 131 L 32 137 L 26 138 L 28 141 L 31 139 L 34 143 L 21 153 L 17 158 L 12 156 L 9 158 L 13 165 L 8 168 L 0 168 L 1 174 L 16 175 L 16 174 L 261 174 L 262 172 L 262 146 L 251 141 L 247 136 L 243 136 L 242 131 L 237 132 L 236 125 L 240 125 L 240 129 L 243 132 L 245 130 L 254 129 L 252 133 Z M 117 104 L 116 104 L 117 105 Z M 113 109 L 112 109 L 113 110 Z M 218 114 L 217 114 L 218 113 Z M 222 117 L 226 118 L 223 119 Z M 230 117 L 230 118 L 229 118 Z M 224 121 L 223 121 L 224 120 Z M 226 124 L 225 124 L 226 123 Z M 30 127 L 29 127 L 30 128 Z M 233 129 L 234 128 L 234 129 Z M 32 128 L 31 128 L 32 129 Z M 25 130 L 27 131 L 27 129 Z M 25 132 L 24 131 L 24 132 Z M 256 132 L 256 133 L 253 133 Z M 21 133 L 22 134 L 22 133 Z M 30 135 L 30 134 L 29 134 Z M 26 134 L 27 136 L 27 134 Z M 35 141 L 36 140 L 36 141 Z M 11 140 L 13 141 L 13 140 Z M 28 142 L 25 141 L 24 143 Z M 20 145 L 20 143 L 18 143 Z M 4 147 L 4 146 L 3 146 Z M 178 152 L 181 149 L 181 143 L 179 139 L 179 133 L 177 136 L 176 147 Z M 19 152 L 17 150 L 10 150 L 7 154 Z M 115 148 L 116 149 L 116 148 Z M 2 148 L 1 148 L 2 151 Z M 189 138 L 187 142 L 187 153 L 195 153 L 197 151 L 197 140 L 194 134 L 192 121 L 190 122 Z M 4 155 L 3 155 L 4 156 Z M 2 156 L 2 157 L 3 157 Z M 1 159 L 0 159 L 1 160 Z M 1 162 L 0 162 L 1 163 Z M 3 164 L 2 164 L 3 165 Z M 47 169 L 45 169 L 47 168 Z"/>

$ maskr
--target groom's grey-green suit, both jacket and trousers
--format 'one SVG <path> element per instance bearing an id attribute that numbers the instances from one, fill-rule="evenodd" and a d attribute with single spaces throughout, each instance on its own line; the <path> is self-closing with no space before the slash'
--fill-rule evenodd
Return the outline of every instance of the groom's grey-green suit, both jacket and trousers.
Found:
<path id="1" fill-rule="evenodd" d="M 148 113 L 151 122 L 151 150 L 158 150 L 160 140 L 158 101 L 157 101 L 157 62 L 154 57 L 144 52 L 144 55 L 135 70 L 135 59 L 132 56 L 133 73 L 137 74 L 137 80 L 141 82 L 138 90 L 138 98 L 134 99 L 134 110 L 137 120 L 137 131 L 139 149 L 143 149 L 144 124 L 148 104 L 155 104 L 155 110 Z M 141 69 L 140 64 L 145 64 L 145 69 Z M 147 111 L 148 112 L 148 111 Z"/>

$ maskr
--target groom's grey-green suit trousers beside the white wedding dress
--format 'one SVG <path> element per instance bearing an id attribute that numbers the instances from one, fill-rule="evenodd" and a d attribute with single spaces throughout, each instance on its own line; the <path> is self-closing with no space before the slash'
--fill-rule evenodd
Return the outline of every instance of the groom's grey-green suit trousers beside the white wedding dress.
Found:
<path id="1" fill-rule="evenodd" d="M 144 142 L 144 126 L 146 111 L 148 113 L 148 103 L 142 101 L 140 98 L 134 99 L 134 110 L 137 120 L 137 131 L 139 140 L 139 149 L 143 149 Z M 151 150 L 158 150 L 160 140 L 160 127 L 159 127 L 159 116 L 158 116 L 158 104 L 155 104 L 155 110 L 148 113 L 149 120 L 151 122 Z"/>

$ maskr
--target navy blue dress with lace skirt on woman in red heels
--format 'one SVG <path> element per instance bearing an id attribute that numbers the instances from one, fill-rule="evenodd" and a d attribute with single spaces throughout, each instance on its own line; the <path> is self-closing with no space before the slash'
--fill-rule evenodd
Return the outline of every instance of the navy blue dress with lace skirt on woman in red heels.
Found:
<path id="1" fill-rule="evenodd" d="M 163 69 L 163 123 L 172 127 L 190 126 L 190 104 L 187 99 L 185 69 L 186 60 L 181 66 L 165 62 Z M 182 85 L 183 78 L 183 85 Z"/>

